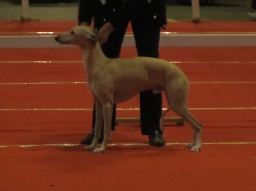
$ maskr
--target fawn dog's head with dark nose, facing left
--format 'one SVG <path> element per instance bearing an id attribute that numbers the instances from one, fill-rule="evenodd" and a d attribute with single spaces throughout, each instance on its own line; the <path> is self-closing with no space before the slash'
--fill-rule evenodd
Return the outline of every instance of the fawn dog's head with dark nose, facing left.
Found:
<path id="1" fill-rule="evenodd" d="M 68 33 L 58 35 L 55 37 L 55 40 L 61 44 L 78 45 L 83 48 L 86 47 L 88 43 L 96 45 L 98 36 L 96 32 L 92 31 L 89 27 L 77 26 Z"/>

